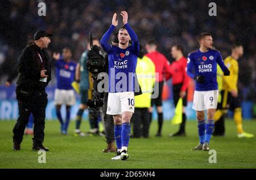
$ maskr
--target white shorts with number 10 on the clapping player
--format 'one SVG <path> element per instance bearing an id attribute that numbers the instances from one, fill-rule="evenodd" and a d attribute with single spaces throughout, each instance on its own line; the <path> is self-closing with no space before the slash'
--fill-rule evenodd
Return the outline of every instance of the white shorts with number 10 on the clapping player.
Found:
<path id="1" fill-rule="evenodd" d="M 109 93 L 107 114 L 134 113 L 134 92 Z"/>

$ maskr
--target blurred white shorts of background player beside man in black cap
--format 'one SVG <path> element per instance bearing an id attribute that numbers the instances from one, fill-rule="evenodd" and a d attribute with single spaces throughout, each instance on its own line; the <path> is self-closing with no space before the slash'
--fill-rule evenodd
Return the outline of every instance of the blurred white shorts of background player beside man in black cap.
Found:
<path id="1" fill-rule="evenodd" d="M 76 96 L 74 90 L 55 89 L 54 104 L 72 106 L 76 103 Z"/>

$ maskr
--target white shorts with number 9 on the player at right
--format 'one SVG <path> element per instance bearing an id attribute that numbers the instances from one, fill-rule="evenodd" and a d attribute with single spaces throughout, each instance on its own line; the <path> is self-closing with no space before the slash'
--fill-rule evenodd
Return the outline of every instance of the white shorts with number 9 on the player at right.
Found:
<path id="1" fill-rule="evenodd" d="M 217 109 L 218 90 L 195 91 L 192 108 L 197 111 L 205 109 Z"/>

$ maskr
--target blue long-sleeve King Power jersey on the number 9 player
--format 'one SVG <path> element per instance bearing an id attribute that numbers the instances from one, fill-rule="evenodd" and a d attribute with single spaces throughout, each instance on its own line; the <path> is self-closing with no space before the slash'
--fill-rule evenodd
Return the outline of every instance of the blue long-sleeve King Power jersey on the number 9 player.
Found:
<path id="1" fill-rule="evenodd" d="M 209 49 L 204 53 L 196 50 L 188 54 L 188 76 L 193 79 L 198 75 L 204 77 L 204 83 L 196 82 L 196 91 L 212 91 L 218 89 L 217 63 L 223 72 L 228 71 L 218 50 Z M 193 69 L 195 73 L 192 72 Z"/>

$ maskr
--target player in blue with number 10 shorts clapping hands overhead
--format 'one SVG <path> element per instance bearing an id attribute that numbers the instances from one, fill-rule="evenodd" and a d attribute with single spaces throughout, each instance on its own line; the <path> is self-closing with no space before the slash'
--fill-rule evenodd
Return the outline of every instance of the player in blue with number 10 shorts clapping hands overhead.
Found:
<path id="1" fill-rule="evenodd" d="M 117 143 L 117 156 L 112 160 L 126 160 L 130 140 L 130 119 L 134 113 L 134 75 L 139 54 L 138 37 L 127 23 L 128 14 L 121 11 L 124 26 L 118 31 L 118 46 L 108 44 L 108 40 L 117 26 L 117 14 L 113 15 L 112 25 L 101 38 L 101 46 L 109 57 L 109 96 L 107 114 L 113 115 L 114 134 Z M 129 40 L 132 45 L 129 46 Z"/>

